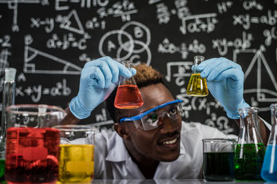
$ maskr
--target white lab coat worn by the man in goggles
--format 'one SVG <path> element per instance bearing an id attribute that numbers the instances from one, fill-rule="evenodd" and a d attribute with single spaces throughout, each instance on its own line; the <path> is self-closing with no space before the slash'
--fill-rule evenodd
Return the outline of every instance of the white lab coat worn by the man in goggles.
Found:
<path id="1" fill-rule="evenodd" d="M 200 123 L 182 122 L 180 156 L 169 163 L 160 162 L 154 179 L 202 178 L 204 138 L 235 138 Z M 139 167 L 134 163 L 115 131 L 101 131 L 95 137 L 95 179 L 143 179 Z"/>

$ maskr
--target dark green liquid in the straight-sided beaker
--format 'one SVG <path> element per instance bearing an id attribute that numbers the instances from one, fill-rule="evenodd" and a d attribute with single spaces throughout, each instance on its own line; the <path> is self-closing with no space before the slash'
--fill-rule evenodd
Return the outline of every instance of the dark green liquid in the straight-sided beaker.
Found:
<path id="1" fill-rule="evenodd" d="M 233 152 L 204 153 L 204 178 L 206 181 L 233 181 Z"/>

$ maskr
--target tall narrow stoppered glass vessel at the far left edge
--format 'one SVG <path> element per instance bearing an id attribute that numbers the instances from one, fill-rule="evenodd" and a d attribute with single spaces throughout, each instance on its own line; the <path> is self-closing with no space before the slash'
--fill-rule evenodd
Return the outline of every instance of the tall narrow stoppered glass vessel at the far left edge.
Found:
<path id="1" fill-rule="evenodd" d="M 5 182 L 5 157 L 6 157 L 6 107 L 15 104 L 15 68 L 5 68 L 5 81 L 3 84 L 3 100 L 1 113 L 0 134 L 0 183 Z"/>

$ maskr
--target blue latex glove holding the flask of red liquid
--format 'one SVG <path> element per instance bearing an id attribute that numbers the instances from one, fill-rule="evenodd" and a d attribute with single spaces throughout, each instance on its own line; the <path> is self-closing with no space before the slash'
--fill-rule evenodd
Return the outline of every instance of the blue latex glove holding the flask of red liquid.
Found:
<path id="1" fill-rule="evenodd" d="M 129 71 L 111 57 L 101 57 L 87 62 L 82 68 L 78 95 L 69 104 L 71 113 L 78 119 L 89 117 L 91 111 L 114 90 L 119 75 L 129 78 L 135 74 L 134 68 Z"/>

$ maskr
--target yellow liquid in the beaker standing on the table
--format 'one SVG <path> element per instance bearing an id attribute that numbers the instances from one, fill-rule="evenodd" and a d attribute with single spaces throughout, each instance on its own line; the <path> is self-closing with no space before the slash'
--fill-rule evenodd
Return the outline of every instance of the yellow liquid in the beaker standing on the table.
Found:
<path id="1" fill-rule="evenodd" d="M 60 182 L 87 183 L 93 174 L 94 145 L 60 145 Z"/>

